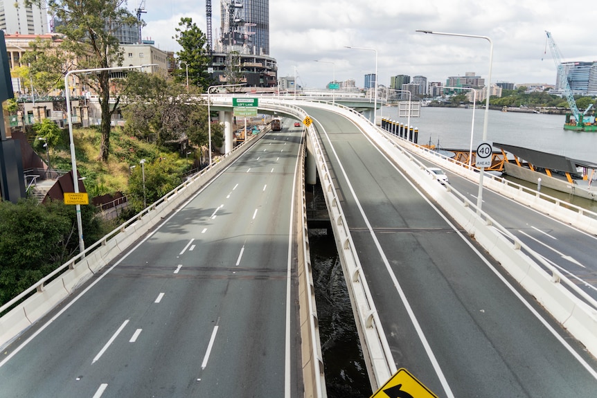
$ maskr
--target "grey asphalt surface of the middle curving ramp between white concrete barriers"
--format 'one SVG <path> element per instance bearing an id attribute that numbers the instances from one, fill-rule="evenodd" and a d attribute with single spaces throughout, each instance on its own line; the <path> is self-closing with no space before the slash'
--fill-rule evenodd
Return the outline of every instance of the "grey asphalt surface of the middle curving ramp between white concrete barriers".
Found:
<path id="1" fill-rule="evenodd" d="M 317 127 L 397 368 L 440 397 L 594 397 L 597 362 L 342 116 Z"/>

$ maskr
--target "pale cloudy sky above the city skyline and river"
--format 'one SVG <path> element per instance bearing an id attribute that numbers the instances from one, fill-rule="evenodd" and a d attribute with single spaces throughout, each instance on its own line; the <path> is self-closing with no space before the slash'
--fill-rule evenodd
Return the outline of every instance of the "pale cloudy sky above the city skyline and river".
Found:
<path id="1" fill-rule="evenodd" d="M 129 7 L 140 3 L 130 1 Z M 145 0 L 144 8 L 143 38 L 162 50 L 179 50 L 172 37 L 181 17 L 191 17 L 206 32 L 204 0 Z M 215 41 L 220 0 L 212 0 L 212 13 Z M 271 0 L 270 56 L 278 62 L 278 76 L 292 76 L 296 68 L 303 87 L 325 87 L 334 69 L 337 80 L 354 79 L 363 87 L 364 75 L 375 72 L 375 51 L 380 84 L 389 85 L 395 75 L 423 75 L 429 82 L 467 72 L 488 77 L 487 40 L 416 33 L 432 30 L 490 37 L 492 82 L 555 84 L 545 31 L 562 60 L 597 61 L 596 16 L 589 0 Z"/>

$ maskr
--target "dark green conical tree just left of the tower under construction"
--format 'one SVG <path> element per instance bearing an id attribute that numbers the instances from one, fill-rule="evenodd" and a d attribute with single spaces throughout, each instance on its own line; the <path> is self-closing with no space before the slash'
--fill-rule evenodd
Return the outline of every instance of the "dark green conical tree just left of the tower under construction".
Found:
<path id="1" fill-rule="evenodd" d="M 177 34 L 174 39 L 182 47 L 182 50 L 177 52 L 179 65 L 185 65 L 175 74 L 177 82 L 186 82 L 186 70 L 188 68 L 189 84 L 201 87 L 203 91 L 212 84 L 211 75 L 207 73 L 207 68 L 211 64 L 210 55 L 206 49 L 207 38 L 205 34 L 189 17 L 180 19 L 176 28 Z"/>

